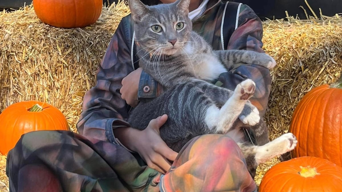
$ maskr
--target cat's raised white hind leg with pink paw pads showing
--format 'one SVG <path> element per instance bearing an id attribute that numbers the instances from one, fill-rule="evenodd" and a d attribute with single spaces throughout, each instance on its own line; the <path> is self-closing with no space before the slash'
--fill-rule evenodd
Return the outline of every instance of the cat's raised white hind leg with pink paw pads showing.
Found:
<path id="1" fill-rule="evenodd" d="M 206 112 L 206 123 L 209 127 L 215 127 L 215 133 L 226 133 L 238 118 L 247 100 L 253 96 L 255 83 L 247 79 L 238 84 L 233 95 L 226 101 L 221 109 L 215 105 L 209 107 Z M 260 117 L 259 117 L 260 118 Z"/>

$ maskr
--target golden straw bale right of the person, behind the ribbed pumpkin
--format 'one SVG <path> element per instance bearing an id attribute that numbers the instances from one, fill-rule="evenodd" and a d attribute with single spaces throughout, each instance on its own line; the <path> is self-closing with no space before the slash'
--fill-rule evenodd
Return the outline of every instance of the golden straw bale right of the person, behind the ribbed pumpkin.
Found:
<path id="1" fill-rule="evenodd" d="M 277 61 L 266 110 L 270 139 L 287 133 L 300 99 L 313 87 L 337 81 L 342 71 L 342 17 L 263 22 L 264 50 Z M 260 165 L 257 184 L 278 158 Z"/>

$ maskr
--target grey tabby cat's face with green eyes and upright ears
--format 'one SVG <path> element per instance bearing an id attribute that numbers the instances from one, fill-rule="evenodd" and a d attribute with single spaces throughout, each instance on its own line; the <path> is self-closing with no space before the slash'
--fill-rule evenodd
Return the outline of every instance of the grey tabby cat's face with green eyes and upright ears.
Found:
<path id="1" fill-rule="evenodd" d="M 154 55 L 173 55 L 182 50 L 192 31 L 188 1 L 145 6 L 139 0 L 129 0 L 139 46 Z"/>

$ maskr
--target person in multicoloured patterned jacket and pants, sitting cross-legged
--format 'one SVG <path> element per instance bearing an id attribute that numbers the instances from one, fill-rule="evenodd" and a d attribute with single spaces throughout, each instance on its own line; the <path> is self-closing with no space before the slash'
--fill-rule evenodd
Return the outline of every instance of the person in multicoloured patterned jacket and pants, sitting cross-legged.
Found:
<path id="1" fill-rule="evenodd" d="M 174 1 L 142 2 L 155 5 Z M 189 11 L 193 30 L 214 50 L 263 53 L 262 24 L 249 6 L 191 0 Z M 139 58 L 134 43 L 139 41 L 134 42 L 132 26 L 131 15 L 122 18 L 109 42 L 96 85 L 84 96 L 79 134 L 27 133 L 9 152 L 6 173 L 10 191 L 257 191 L 253 173 L 230 137 L 198 136 L 176 153 L 159 135 L 167 115 L 151 120 L 143 131 L 130 127 L 126 121 L 130 108 L 162 92 L 161 86 L 136 65 Z M 213 83 L 234 90 L 248 78 L 256 87 L 250 100 L 263 116 L 271 88 L 267 68 L 236 65 Z M 248 128 L 241 122 L 234 126 Z M 256 126 L 265 125 L 261 120 Z"/>

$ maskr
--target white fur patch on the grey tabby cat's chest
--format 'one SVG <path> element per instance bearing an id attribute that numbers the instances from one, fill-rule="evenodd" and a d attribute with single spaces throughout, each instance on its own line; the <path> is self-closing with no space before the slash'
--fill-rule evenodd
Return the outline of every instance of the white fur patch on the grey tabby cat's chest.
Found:
<path id="1" fill-rule="evenodd" d="M 227 72 L 226 68 L 212 54 L 196 54 L 193 62 L 193 70 L 198 78 L 212 81 L 219 77 L 221 73 Z"/>

